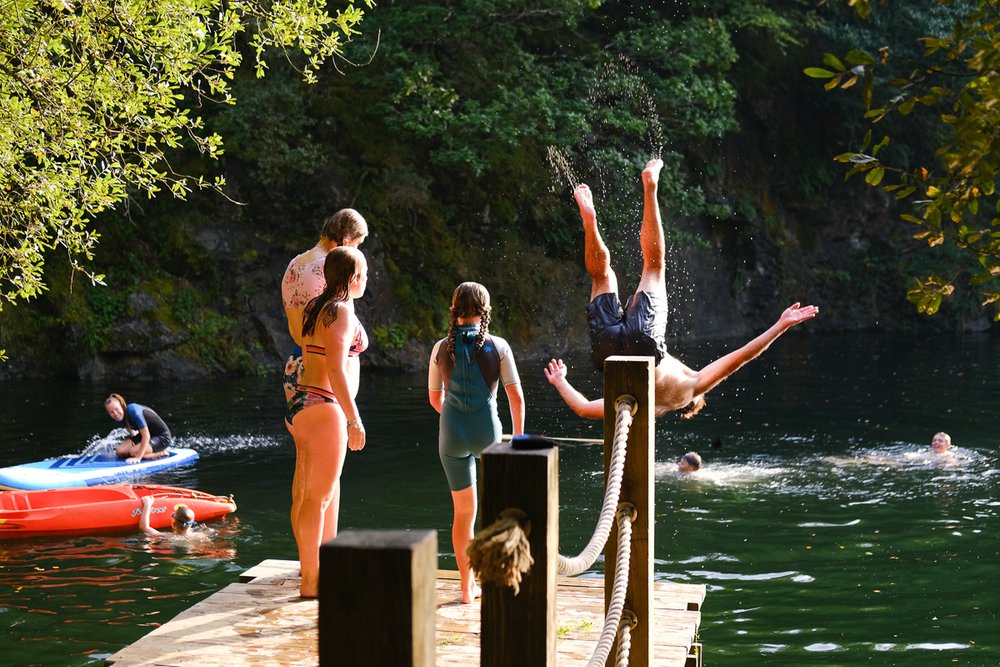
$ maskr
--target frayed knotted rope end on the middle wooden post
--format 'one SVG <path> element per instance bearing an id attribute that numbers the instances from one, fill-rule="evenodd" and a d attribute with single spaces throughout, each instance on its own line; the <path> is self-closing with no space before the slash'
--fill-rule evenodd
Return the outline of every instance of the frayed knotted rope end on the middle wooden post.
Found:
<path id="1" fill-rule="evenodd" d="M 482 581 L 513 588 L 517 595 L 521 575 L 535 562 L 528 544 L 530 534 L 528 516 L 519 509 L 505 509 L 469 542 L 465 550 L 469 564 Z"/>

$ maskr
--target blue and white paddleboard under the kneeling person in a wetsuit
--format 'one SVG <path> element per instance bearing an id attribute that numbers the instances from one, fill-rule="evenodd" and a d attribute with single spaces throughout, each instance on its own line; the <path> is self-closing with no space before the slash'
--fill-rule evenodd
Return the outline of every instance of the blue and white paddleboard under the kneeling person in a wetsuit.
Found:
<path id="1" fill-rule="evenodd" d="M 0 468 L 0 488 L 32 491 L 113 484 L 125 479 L 142 477 L 151 472 L 175 468 L 191 463 L 197 458 L 198 452 L 193 449 L 171 447 L 167 449 L 166 456 L 143 459 L 138 463 L 125 463 L 113 452 L 46 459 Z"/>

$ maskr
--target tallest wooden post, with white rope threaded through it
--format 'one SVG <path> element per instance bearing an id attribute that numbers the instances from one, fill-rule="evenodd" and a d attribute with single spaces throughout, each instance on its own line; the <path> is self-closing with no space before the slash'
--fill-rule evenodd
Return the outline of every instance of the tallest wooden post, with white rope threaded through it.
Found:
<path id="1" fill-rule="evenodd" d="M 637 518 L 632 523 L 632 550 L 625 609 L 637 617 L 632 629 L 630 667 L 653 664 L 653 508 L 655 415 L 653 412 L 652 357 L 608 357 L 604 362 L 604 478 L 611 468 L 611 448 L 615 438 L 615 403 L 620 396 L 635 398 L 637 409 L 628 435 L 628 453 L 622 478 L 620 503 L 635 506 Z M 604 609 L 611 601 L 618 553 L 618 525 L 608 537 L 604 551 Z M 615 642 L 607 665 L 613 667 L 618 643 Z"/>

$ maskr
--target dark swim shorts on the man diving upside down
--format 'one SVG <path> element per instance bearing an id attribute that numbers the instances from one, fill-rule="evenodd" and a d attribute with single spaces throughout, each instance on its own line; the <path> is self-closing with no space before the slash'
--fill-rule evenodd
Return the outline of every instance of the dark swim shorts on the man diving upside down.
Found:
<path id="1" fill-rule="evenodd" d="M 587 306 L 590 360 L 604 370 L 612 355 L 653 357 L 667 354 L 667 298 L 653 292 L 633 294 L 625 308 L 613 292 L 598 294 Z"/>

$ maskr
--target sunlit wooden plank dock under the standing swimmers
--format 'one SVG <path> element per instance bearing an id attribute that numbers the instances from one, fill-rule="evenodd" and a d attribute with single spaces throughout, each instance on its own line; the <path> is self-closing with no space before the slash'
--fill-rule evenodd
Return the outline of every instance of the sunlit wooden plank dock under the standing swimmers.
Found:
<path id="1" fill-rule="evenodd" d="M 655 667 L 700 667 L 705 587 L 654 583 Z M 437 665 L 479 664 L 479 605 L 461 604 L 457 572 L 437 573 Z M 298 561 L 265 560 L 107 659 L 115 667 L 309 666 L 319 662 L 315 600 L 299 598 Z M 558 663 L 585 665 L 604 622 L 604 582 L 560 577 Z M 359 623 L 372 619 L 358 619 Z"/>

